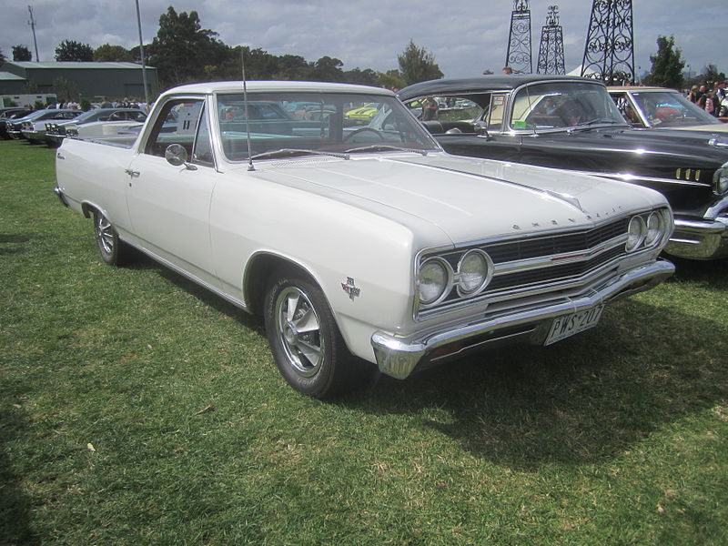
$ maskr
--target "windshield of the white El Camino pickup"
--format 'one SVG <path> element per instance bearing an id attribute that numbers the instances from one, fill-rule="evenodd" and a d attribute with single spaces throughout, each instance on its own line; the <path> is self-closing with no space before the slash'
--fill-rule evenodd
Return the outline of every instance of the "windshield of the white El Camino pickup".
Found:
<path id="1" fill-rule="evenodd" d="M 394 96 L 345 93 L 248 93 L 217 96 L 220 138 L 227 159 L 275 152 L 412 151 L 438 149 L 429 133 Z M 265 154 L 265 156 L 261 156 Z"/>

